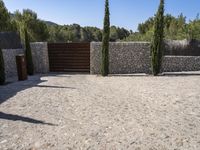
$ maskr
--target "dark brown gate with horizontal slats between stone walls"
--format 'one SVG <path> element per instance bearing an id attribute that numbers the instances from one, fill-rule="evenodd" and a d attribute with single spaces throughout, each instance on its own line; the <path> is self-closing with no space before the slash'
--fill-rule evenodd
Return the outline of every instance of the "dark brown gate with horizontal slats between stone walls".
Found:
<path id="1" fill-rule="evenodd" d="M 90 72 L 90 43 L 48 43 L 51 72 Z"/>

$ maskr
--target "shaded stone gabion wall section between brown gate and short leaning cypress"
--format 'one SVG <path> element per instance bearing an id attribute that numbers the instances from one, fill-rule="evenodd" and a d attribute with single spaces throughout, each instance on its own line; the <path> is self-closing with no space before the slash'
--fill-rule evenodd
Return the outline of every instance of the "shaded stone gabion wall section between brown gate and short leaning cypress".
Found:
<path id="1" fill-rule="evenodd" d="M 35 73 L 49 72 L 48 45 L 46 42 L 31 43 Z"/>

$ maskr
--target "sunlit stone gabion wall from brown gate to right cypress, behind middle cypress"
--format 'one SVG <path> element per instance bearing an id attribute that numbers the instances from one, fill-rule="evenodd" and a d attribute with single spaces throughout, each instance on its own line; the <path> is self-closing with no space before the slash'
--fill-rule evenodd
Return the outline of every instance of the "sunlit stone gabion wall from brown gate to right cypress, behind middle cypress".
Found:
<path id="1" fill-rule="evenodd" d="M 131 74 L 150 73 L 150 43 L 148 42 L 113 42 L 110 43 L 110 73 Z M 100 74 L 101 43 L 90 45 L 90 72 Z"/>

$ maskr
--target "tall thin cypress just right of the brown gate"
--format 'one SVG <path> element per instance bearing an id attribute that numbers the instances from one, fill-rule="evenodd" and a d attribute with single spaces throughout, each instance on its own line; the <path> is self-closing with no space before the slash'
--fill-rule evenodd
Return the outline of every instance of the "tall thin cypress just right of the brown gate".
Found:
<path id="1" fill-rule="evenodd" d="M 101 74 L 107 76 L 109 73 L 109 40 L 110 40 L 110 12 L 109 1 L 105 1 L 105 16 L 101 53 Z"/>

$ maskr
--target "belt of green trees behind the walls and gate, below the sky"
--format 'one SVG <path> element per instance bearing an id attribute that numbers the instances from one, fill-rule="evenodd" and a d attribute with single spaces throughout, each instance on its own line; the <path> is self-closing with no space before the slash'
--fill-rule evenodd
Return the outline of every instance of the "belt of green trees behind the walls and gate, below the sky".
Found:
<path id="1" fill-rule="evenodd" d="M 48 42 L 91 42 L 102 41 L 102 29 L 97 27 L 81 27 L 78 24 L 58 25 L 51 21 L 38 18 L 37 13 L 24 9 L 22 12 L 9 13 L 3 1 L 0 1 L 0 31 L 18 31 L 22 40 L 24 27 L 30 35 L 30 41 Z M 180 14 L 174 17 L 165 15 L 165 39 L 200 39 L 200 18 L 186 21 L 186 17 Z M 153 36 L 154 17 L 150 17 L 144 23 L 138 25 L 138 31 L 132 32 L 125 28 L 110 27 L 110 41 L 150 41 Z"/>

